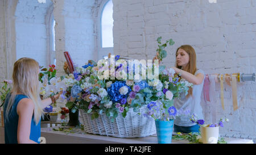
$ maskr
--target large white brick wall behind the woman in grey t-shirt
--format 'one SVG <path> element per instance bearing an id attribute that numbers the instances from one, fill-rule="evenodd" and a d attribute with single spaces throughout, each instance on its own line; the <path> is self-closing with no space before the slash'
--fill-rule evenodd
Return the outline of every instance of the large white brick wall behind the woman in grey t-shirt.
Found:
<path id="1" fill-rule="evenodd" d="M 177 47 L 190 44 L 197 53 L 197 68 L 205 73 L 255 73 L 254 0 L 113 0 L 113 5 L 115 55 L 152 59 L 156 39 L 162 36 L 163 41 L 175 41 L 173 47 L 168 47 L 164 65 L 174 66 Z M 216 98 L 220 98 L 219 85 L 216 84 Z M 230 123 L 220 129 L 221 135 L 255 140 L 256 83 L 238 83 L 237 111 L 233 111 L 232 89 L 224 86 L 225 111 L 218 100 L 218 119 L 226 117 Z M 201 104 L 209 122 L 209 105 L 203 101 Z"/>

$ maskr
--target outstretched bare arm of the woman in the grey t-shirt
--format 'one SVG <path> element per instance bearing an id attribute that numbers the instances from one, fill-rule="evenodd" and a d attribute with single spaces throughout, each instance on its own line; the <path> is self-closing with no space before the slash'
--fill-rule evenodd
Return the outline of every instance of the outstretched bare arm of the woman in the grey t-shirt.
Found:
<path id="1" fill-rule="evenodd" d="M 204 74 L 202 73 L 198 73 L 196 74 L 196 76 L 194 76 L 191 73 L 185 72 L 185 70 L 176 68 L 176 67 L 172 67 L 176 73 L 181 73 L 181 77 L 183 77 L 184 79 L 186 79 L 188 82 L 193 83 L 194 85 L 200 85 L 203 80 L 204 80 Z"/>

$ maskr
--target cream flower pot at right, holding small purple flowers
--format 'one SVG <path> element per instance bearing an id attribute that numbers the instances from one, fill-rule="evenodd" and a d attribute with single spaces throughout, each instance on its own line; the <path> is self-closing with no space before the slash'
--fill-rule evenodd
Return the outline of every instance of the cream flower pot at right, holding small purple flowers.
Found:
<path id="1" fill-rule="evenodd" d="M 201 141 L 204 144 L 217 144 L 219 127 L 200 127 Z"/>

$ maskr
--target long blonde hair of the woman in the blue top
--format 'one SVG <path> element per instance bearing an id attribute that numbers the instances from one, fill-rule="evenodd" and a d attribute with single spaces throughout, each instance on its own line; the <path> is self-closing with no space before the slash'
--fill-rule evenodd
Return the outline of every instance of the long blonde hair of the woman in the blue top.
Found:
<path id="1" fill-rule="evenodd" d="M 34 103 L 34 121 L 39 123 L 44 115 L 39 96 L 39 64 L 32 58 L 23 57 L 14 63 L 13 69 L 13 89 L 6 108 L 6 118 L 9 111 L 13 110 L 15 97 L 18 93 L 26 95 Z"/>

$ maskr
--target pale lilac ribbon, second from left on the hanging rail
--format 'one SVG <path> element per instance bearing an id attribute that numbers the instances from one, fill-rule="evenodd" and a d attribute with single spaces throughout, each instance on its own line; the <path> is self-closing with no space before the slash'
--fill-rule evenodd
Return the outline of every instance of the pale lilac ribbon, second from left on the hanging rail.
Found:
<path id="1" fill-rule="evenodd" d="M 215 86 L 215 79 L 217 75 L 209 76 L 210 81 L 210 119 L 212 122 L 217 122 L 217 98 L 216 98 L 216 86 Z"/>

